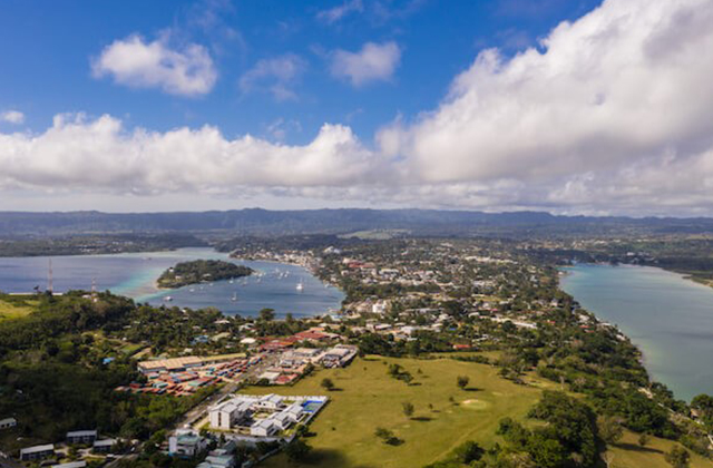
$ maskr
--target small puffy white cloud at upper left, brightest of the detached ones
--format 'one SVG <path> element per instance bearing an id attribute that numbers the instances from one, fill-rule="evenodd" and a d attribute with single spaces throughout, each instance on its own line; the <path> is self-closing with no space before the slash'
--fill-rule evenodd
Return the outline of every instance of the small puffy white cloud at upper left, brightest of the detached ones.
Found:
<path id="1" fill-rule="evenodd" d="M 107 46 L 91 61 L 92 75 L 110 76 L 117 84 L 134 88 L 160 88 L 180 96 L 205 95 L 213 89 L 217 71 L 208 51 L 187 43 L 172 48 L 170 33 L 148 42 L 133 35 Z"/>

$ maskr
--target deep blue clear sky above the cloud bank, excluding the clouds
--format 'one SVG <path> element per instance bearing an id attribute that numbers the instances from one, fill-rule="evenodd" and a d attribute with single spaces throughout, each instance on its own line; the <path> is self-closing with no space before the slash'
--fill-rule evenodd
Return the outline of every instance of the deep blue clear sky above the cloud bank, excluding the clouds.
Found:
<path id="1" fill-rule="evenodd" d="M 11 72 L 0 74 L 0 108 L 22 109 L 27 126 L 38 131 L 56 114 L 84 111 L 121 116 L 157 130 L 211 124 L 228 136 L 268 138 L 274 137 L 270 127 L 282 121 L 284 139 L 294 143 L 312 139 L 325 121 L 345 123 L 369 139 L 398 115 L 411 118 L 434 107 L 480 49 L 516 52 L 597 2 L 536 0 L 537 8 L 522 8 L 533 3 L 527 0 L 360 3 L 362 11 L 328 22 L 320 12 L 343 3 L 7 1 L 0 16 L 0 62 Z M 204 27 L 198 22 L 206 16 L 217 19 Z M 218 74 L 209 92 L 172 96 L 92 77 L 90 59 L 115 40 L 137 33 L 148 41 L 166 30 L 177 42 L 208 48 Z M 358 50 L 369 41 L 394 41 L 402 50 L 392 76 L 355 88 L 330 74 L 331 51 Z M 290 84 L 294 98 L 241 90 L 241 77 L 261 59 L 285 53 L 304 60 Z"/>

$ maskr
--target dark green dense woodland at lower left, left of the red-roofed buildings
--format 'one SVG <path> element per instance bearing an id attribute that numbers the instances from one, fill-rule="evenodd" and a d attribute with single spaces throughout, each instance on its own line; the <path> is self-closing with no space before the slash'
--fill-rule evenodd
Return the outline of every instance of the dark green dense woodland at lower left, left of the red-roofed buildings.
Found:
<path id="1" fill-rule="evenodd" d="M 117 349 L 107 333 L 129 332 L 129 324 L 147 313 L 146 306 L 109 294 L 92 300 L 81 292 L 40 294 L 35 300 L 39 305 L 33 313 L 0 322 L 0 415 L 16 417 L 23 438 L 55 441 L 68 430 L 96 428 L 105 435 L 145 439 L 212 391 L 201 390 L 191 398 L 115 391 L 144 378 L 129 353 Z M 170 330 L 168 323 L 191 328 L 204 314 L 185 320 L 176 310 L 157 316 L 155 323 Z M 205 316 L 215 320 L 209 312 Z M 120 347 L 123 341 L 116 343 Z M 6 450 L 17 441 L 9 443 Z"/>

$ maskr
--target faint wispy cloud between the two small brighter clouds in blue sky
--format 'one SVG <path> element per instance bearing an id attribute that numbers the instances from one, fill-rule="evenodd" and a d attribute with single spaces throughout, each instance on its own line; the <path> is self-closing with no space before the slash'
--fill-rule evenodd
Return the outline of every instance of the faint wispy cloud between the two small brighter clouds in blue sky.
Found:
<path id="1" fill-rule="evenodd" d="M 296 99 L 293 85 L 306 69 L 306 61 L 294 55 L 262 59 L 238 80 L 243 92 L 266 89 L 276 100 Z"/>

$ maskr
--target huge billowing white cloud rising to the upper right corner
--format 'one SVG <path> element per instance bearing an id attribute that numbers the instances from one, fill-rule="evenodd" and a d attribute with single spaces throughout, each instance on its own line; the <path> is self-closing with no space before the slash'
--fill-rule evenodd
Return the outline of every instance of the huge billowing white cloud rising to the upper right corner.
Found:
<path id="1" fill-rule="evenodd" d="M 383 129 L 381 147 L 414 179 L 484 194 L 510 182 L 520 204 L 701 204 L 713 196 L 711 23 L 709 0 L 605 1 L 543 50 L 481 52 L 436 111 Z M 695 183 L 674 188 L 673 169 Z"/>

